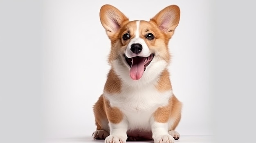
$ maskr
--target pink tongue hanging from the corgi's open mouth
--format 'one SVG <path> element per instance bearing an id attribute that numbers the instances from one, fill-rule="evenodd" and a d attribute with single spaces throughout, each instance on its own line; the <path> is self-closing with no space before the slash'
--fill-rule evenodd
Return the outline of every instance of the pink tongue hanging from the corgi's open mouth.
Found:
<path id="1" fill-rule="evenodd" d="M 130 77 L 133 80 L 138 80 L 142 77 L 144 73 L 144 57 L 134 57 L 132 66 L 130 69 Z"/>

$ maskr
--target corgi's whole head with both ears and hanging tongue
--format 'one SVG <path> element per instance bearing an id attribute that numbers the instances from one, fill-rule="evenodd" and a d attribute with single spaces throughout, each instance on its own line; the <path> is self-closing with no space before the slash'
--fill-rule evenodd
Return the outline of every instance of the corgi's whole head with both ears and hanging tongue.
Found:
<path id="1" fill-rule="evenodd" d="M 129 21 L 117 8 L 104 5 L 100 20 L 111 40 L 109 62 L 117 73 L 139 80 L 148 70 L 150 77 L 170 62 L 168 42 L 180 20 L 179 7 L 168 6 L 150 21 Z"/>

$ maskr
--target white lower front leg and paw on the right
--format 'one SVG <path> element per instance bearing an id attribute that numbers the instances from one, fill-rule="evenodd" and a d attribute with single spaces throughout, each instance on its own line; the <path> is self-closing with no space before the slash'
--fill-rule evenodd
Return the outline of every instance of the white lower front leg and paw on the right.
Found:
<path id="1" fill-rule="evenodd" d="M 168 123 L 153 121 L 151 125 L 154 143 L 174 143 L 174 138 L 168 133 Z"/>

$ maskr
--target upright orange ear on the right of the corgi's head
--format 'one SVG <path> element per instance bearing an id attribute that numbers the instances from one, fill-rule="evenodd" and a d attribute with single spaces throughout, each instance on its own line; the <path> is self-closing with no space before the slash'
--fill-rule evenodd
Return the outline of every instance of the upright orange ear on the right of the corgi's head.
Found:
<path id="1" fill-rule="evenodd" d="M 170 5 L 157 13 L 150 21 L 155 22 L 159 29 L 171 38 L 180 22 L 180 8 L 177 5 Z"/>

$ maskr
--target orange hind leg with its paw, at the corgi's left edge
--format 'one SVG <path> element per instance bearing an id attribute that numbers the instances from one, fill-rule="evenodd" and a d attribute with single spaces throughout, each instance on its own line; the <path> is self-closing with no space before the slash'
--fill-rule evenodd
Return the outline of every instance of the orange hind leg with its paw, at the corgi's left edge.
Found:
<path id="1" fill-rule="evenodd" d="M 93 139 L 106 139 L 109 135 L 108 119 L 105 112 L 105 106 L 102 95 L 93 107 L 95 124 L 97 130 L 92 134 Z"/>

